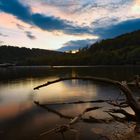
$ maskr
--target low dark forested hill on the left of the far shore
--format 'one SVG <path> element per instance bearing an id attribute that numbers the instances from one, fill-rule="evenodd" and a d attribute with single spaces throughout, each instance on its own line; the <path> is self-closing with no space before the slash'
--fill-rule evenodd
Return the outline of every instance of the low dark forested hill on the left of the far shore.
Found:
<path id="1" fill-rule="evenodd" d="M 29 49 L 16 46 L 0 46 L 0 63 L 15 63 L 17 65 L 42 65 L 52 56 L 61 56 L 63 53 L 44 49 Z M 47 61 L 47 62 L 48 62 Z"/>

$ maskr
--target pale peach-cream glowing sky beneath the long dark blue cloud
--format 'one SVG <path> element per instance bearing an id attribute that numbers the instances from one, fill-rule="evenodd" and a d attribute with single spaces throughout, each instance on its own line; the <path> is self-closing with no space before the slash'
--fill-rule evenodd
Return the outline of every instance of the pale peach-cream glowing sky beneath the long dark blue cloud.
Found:
<path id="1" fill-rule="evenodd" d="M 43 31 L 37 27 L 31 27 L 30 25 L 17 20 L 15 17 L 1 13 L 0 16 L 3 20 L 0 22 L 1 32 L 4 32 L 8 37 L 1 37 L 5 40 L 6 44 L 17 45 L 21 47 L 34 47 L 34 48 L 46 48 L 46 49 L 57 49 L 62 44 L 68 42 L 69 40 L 79 40 L 79 39 L 97 39 L 95 35 L 89 34 L 79 34 L 79 35 L 69 35 L 64 34 L 61 31 Z M 5 25 L 7 25 L 5 27 Z M 19 29 L 17 25 L 20 25 L 24 29 Z M 36 36 L 35 40 L 30 40 L 27 38 L 24 31 L 32 31 L 32 34 Z M 9 40 L 10 38 L 10 40 Z M 26 40 L 26 41 L 25 41 Z"/>

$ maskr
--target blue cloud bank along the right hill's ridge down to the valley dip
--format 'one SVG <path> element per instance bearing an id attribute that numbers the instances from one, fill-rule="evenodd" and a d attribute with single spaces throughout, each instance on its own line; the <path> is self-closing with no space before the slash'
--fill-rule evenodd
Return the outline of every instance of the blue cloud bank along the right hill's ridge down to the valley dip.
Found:
<path id="1" fill-rule="evenodd" d="M 93 30 L 93 34 L 99 36 L 100 37 L 99 40 L 113 38 L 124 33 L 139 30 L 140 29 L 139 25 L 140 25 L 140 19 L 126 20 L 106 27 L 95 28 Z M 95 43 L 96 41 L 97 40 L 92 40 L 92 39 L 69 41 L 65 43 L 63 47 L 60 48 L 59 50 L 60 51 L 75 50 L 75 49 L 86 47 L 90 44 Z"/>

